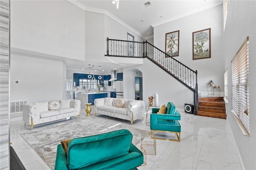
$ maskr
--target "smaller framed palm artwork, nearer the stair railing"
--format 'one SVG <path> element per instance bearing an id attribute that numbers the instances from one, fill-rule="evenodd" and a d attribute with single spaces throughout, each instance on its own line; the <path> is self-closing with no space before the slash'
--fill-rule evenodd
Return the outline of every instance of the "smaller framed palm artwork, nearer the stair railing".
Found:
<path id="1" fill-rule="evenodd" d="M 165 53 L 171 57 L 179 56 L 179 36 L 180 30 L 165 34 Z"/>

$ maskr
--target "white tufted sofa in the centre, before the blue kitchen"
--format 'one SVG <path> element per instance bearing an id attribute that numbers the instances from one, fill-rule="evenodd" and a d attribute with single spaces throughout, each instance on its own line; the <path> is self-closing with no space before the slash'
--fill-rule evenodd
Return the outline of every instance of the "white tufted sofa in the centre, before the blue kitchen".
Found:
<path id="1" fill-rule="evenodd" d="M 95 115 L 99 113 L 125 119 L 131 121 L 131 124 L 136 119 L 143 119 L 143 115 L 146 113 L 144 101 L 110 97 L 95 99 L 94 109 Z"/>

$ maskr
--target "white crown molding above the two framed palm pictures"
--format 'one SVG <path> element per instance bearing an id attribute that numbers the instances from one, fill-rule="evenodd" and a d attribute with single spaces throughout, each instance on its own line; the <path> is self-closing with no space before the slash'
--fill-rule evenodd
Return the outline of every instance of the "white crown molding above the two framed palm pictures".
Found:
<path id="1" fill-rule="evenodd" d="M 221 4 L 222 4 L 222 1 L 216 1 L 216 2 L 214 2 L 214 3 L 212 3 L 212 4 L 206 5 L 205 8 L 203 8 L 202 10 L 200 10 L 200 9 L 199 9 L 199 10 L 198 10 L 198 9 L 191 10 L 191 11 L 185 12 L 185 13 L 183 13 L 183 14 L 180 14 L 180 15 L 178 15 L 178 16 L 175 16 L 175 17 L 172 17 L 172 18 L 168 18 L 168 19 L 166 19 L 166 20 L 157 22 L 157 23 L 155 23 L 155 24 L 151 24 L 151 26 L 152 26 L 152 27 L 160 26 L 160 25 L 162 25 L 162 24 L 166 24 L 166 23 L 168 23 L 168 22 L 172 22 L 172 21 L 174 21 L 174 20 L 178 20 L 178 19 L 180 19 L 180 18 L 189 16 L 189 15 L 192 15 L 192 14 L 196 14 L 196 13 L 198 13 L 198 12 L 202 12 L 202 11 L 204 11 L 204 10 L 207 10 L 207 9 L 209 9 L 209 8 L 213 8 L 213 7 L 218 6 L 218 5 L 221 5 Z"/>

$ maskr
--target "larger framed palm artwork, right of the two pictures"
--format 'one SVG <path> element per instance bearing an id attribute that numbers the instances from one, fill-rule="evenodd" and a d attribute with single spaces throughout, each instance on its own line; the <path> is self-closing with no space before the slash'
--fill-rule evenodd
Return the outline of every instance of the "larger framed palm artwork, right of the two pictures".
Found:
<path id="1" fill-rule="evenodd" d="M 193 59 L 211 57 L 211 28 L 193 32 Z"/>

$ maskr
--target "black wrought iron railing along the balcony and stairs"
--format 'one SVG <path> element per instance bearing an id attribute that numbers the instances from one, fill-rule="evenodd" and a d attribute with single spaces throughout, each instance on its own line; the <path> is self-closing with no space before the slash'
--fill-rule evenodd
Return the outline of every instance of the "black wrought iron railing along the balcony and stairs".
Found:
<path id="1" fill-rule="evenodd" d="M 166 71 L 169 75 L 180 81 L 188 89 L 194 92 L 194 115 L 197 115 L 198 109 L 198 84 L 197 70 L 194 71 L 174 59 L 164 51 L 158 49 L 151 43 L 134 42 L 126 40 L 114 40 L 107 38 L 107 54 L 113 57 L 136 57 L 148 58 L 158 67 Z"/>

